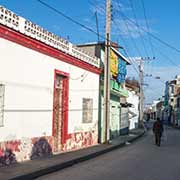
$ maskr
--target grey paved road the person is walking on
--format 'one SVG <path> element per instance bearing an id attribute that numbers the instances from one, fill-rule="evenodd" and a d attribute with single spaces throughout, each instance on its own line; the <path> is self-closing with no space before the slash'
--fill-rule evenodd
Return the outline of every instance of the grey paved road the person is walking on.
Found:
<path id="1" fill-rule="evenodd" d="M 166 128 L 167 140 L 154 145 L 152 132 L 112 151 L 39 180 L 179 180 L 180 130 Z"/>

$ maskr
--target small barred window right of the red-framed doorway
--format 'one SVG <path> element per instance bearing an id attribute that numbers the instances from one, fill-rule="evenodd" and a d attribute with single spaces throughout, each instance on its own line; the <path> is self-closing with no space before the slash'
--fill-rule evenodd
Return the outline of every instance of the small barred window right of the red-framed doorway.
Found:
<path id="1" fill-rule="evenodd" d="M 93 99 L 83 98 L 83 123 L 92 123 L 93 121 Z"/>

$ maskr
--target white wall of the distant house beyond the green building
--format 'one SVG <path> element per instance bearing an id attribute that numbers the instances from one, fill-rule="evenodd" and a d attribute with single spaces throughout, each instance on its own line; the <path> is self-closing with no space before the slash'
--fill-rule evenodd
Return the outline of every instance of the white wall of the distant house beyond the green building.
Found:
<path id="1" fill-rule="evenodd" d="M 133 107 L 129 107 L 129 110 L 132 111 L 134 114 L 137 116 L 133 117 L 130 119 L 130 125 L 129 129 L 134 129 L 136 128 L 136 124 L 138 123 L 138 117 L 139 117 L 139 110 L 138 110 L 138 105 L 139 105 L 139 97 L 135 94 L 134 91 L 129 91 L 128 90 L 129 97 L 127 98 L 127 102 L 133 104 Z"/>

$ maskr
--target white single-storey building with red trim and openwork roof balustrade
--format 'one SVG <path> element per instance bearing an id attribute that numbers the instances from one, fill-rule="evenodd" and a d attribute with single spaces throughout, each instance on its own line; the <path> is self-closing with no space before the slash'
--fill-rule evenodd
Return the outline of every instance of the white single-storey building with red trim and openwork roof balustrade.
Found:
<path id="1" fill-rule="evenodd" d="M 0 157 L 97 144 L 98 58 L 3 7 L 0 49 Z"/>

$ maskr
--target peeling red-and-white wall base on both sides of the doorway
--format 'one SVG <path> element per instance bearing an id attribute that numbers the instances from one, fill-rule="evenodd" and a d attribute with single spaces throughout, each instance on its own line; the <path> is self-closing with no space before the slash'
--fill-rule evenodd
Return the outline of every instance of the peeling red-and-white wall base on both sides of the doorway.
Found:
<path id="1" fill-rule="evenodd" d="M 68 152 L 98 143 L 97 131 L 68 134 L 61 152 Z M 53 137 L 43 136 L 0 142 L 0 167 L 53 154 Z M 61 153 L 59 152 L 59 153 Z"/>

